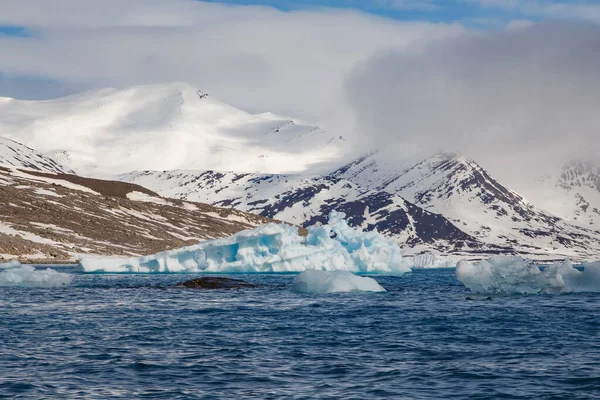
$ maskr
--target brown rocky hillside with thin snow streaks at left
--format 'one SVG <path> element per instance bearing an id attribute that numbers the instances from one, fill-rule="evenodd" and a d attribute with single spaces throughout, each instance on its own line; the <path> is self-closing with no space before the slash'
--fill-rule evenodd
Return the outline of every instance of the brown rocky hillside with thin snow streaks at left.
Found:
<path id="1" fill-rule="evenodd" d="M 138 256 L 232 235 L 269 220 L 164 199 L 123 182 L 0 167 L 0 261 Z"/>

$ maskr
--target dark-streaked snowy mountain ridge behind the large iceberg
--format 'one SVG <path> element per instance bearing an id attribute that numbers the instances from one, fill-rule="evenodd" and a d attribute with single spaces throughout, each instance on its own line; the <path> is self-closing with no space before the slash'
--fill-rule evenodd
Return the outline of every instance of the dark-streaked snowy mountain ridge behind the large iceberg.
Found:
<path id="1" fill-rule="evenodd" d="M 600 251 L 600 232 L 536 207 L 460 154 L 398 163 L 373 152 L 319 176 L 144 171 L 121 179 L 304 226 L 337 209 L 417 248 L 576 259 Z"/>

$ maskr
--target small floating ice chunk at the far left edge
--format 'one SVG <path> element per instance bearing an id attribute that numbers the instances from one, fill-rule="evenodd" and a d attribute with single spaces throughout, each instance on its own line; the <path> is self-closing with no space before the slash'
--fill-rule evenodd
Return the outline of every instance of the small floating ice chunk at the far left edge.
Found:
<path id="1" fill-rule="evenodd" d="M 73 277 L 53 269 L 35 269 L 31 265 L 22 265 L 0 272 L 0 286 L 22 286 L 51 288 L 68 285 Z"/>

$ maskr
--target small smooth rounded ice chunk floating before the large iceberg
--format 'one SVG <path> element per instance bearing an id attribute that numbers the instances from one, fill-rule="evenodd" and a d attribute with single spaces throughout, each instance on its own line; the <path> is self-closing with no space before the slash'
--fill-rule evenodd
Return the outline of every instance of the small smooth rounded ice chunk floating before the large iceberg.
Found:
<path id="1" fill-rule="evenodd" d="M 294 278 L 292 290 L 315 294 L 386 291 L 375 279 L 347 271 L 304 271 Z"/>

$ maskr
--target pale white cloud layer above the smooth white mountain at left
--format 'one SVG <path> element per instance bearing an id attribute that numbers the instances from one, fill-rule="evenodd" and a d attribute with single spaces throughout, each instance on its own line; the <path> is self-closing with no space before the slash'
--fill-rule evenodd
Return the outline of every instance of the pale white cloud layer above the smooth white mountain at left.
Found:
<path id="1" fill-rule="evenodd" d="M 81 86 L 186 81 L 250 111 L 317 120 L 338 111 L 358 63 L 462 31 L 332 9 L 281 12 L 191 0 L 3 0 L 0 71 Z"/>

